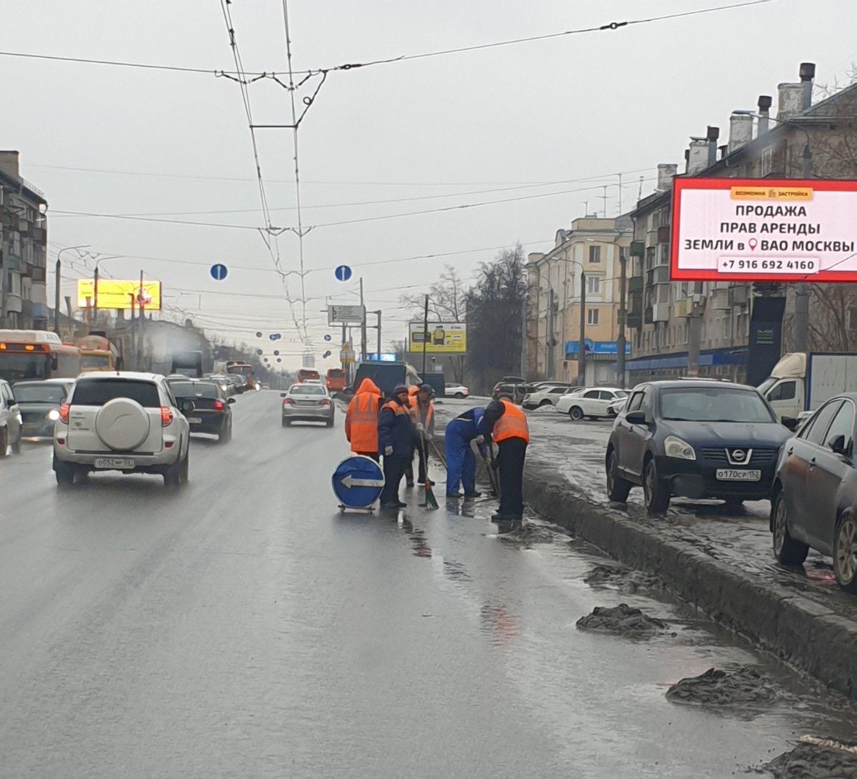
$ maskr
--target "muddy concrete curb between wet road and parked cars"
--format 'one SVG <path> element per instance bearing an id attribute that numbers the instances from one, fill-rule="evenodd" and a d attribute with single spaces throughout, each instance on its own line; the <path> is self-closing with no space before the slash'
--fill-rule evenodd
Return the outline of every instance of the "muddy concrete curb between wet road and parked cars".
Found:
<path id="1" fill-rule="evenodd" d="M 443 448 L 441 439 L 440 447 Z M 482 478 L 484 466 L 477 461 Z M 591 503 L 568 480 L 524 468 L 524 500 L 578 538 L 625 565 L 655 573 L 719 625 L 857 700 L 857 623 L 824 606 L 711 559 L 680 540 Z"/>

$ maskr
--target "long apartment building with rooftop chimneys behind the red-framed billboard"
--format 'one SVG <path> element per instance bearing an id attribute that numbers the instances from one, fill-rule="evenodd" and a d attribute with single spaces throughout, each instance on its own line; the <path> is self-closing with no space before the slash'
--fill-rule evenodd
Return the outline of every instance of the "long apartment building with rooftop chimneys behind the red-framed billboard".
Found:
<path id="1" fill-rule="evenodd" d="M 772 99 L 768 95 L 758 97 L 756 111 L 733 112 L 726 144 L 717 146 L 716 127 L 709 127 L 705 136 L 692 137 L 685 152 L 685 175 L 855 178 L 857 84 L 812 105 L 814 75 L 814 65 L 803 63 L 800 82 L 778 85 L 776 118 L 770 117 Z M 631 214 L 627 322 L 632 328 L 633 354 L 627 362 L 629 384 L 687 373 L 752 382 L 748 359 L 750 374 L 758 376 L 766 370 L 752 356 L 753 317 L 770 309 L 770 299 L 780 299 L 785 311 L 781 315 L 781 351 L 794 348 L 790 321 L 795 285 L 671 282 L 669 241 L 676 170 L 677 166 L 658 166 L 657 191 L 640 200 Z M 836 287 L 835 294 L 825 292 L 831 287 Z M 768 299 L 765 305 L 759 302 L 762 298 Z M 813 284 L 810 311 L 810 348 L 857 347 L 857 286 Z M 770 329 L 765 331 L 770 338 Z M 766 359 L 773 357 L 769 354 Z"/>

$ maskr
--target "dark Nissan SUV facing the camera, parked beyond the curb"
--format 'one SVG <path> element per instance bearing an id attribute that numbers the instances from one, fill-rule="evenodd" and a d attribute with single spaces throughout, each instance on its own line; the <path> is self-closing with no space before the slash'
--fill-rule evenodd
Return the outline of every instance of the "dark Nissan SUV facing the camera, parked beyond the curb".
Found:
<path id="1" fill-rule="evenodd" d="M 624 503 L 642 486 L 662 514 L 673 495 L 738 505 L 770 498 L 776 461 L 791 432 L 744 384 L 660 381 L 634 387 L 607 445 L 607 491 Z"/>

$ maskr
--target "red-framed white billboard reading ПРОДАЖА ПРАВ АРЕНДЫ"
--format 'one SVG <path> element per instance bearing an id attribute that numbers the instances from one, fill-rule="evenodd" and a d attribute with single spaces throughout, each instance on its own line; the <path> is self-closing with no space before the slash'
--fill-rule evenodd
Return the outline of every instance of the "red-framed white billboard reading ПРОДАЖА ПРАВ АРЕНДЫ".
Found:
<path id="1" fill-rule="evenodd" d="M 674 281 L 857 281 L 857 181 L 675 178 Z"/>

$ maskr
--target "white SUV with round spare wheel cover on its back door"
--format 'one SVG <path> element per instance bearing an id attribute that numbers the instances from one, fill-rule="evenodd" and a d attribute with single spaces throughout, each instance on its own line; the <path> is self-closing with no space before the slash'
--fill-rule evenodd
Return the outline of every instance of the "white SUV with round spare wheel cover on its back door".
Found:
<path id="1" fill-rule="evenodd" d="M 161 474 L 166 486 L 188 480 L 190 430 L 163 376 L 110 372 L 81 376 L 54 426 L 57 484 L 91 471 Z"/>

